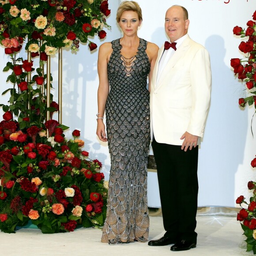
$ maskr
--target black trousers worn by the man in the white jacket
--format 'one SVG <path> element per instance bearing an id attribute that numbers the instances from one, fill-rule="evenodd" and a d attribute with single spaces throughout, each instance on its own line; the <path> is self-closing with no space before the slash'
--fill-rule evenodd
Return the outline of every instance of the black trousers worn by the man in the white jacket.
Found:
<path id="1" fill-rule="evenodd" d="M 196 243 L 198 195 L 198 146 L 181 150 L 181 146 L 152 142 L 157 165 L 165 236 L 174 241 Z"/>

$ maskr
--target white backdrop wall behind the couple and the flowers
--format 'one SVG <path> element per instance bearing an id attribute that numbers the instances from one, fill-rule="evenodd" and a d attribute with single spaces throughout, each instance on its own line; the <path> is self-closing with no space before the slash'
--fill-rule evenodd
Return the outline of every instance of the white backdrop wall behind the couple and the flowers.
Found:
<path id="1" fill-rule="evenodd" d="M 100 45 L 121 36 L 115 21 L 119 0 L 109 0 L 111 15 L 107 22 L 112 30 L 107 37 L 93 41 Z M 199 156 L 199 206 L 235 206 L 237 196 L 247 195 L 247 182 L 255 180 L 250 162 L 256 154 L 256 143 L 250 132 L 253 108 L 241 110 L 238 98 L 245 95 L 245 86 L 238 82 L 230 68 L 231 58 L 241 58 L 238 50 L 240 38 L 233 35 L 234 26 L 245 27 L 255 10 L 254 0 L 137 0 L 143 11 L 143 24 L 139 37 L 161 46 L 166 41 L 164 18 L 166 9 L 173 4 L 188 9 L 189 35 L 204 45 L 211 55 L 212 101 L 205 136 Z M 228 4 L 225 4 L 228 3 Z M 26 59 L 22 50 L 20 56 Z M 0 70 L 3 70 L 7 56 L 0 48 Z M 87 45 L 80 45 L 75 54 L 63 53 L 63 124 L 81 130 L 85 150 L 91 158 L 103 163 L 106 179 L 109 177 L 110 158 L 106 143 L 100 143 L 96 132 L 97 113 L 97 58 L 98 50 L 90 53 Z M 52 58 L 53 87 L 57 88 L 56 59 Z M 5 80 L 9 73 L 0 72 L 0 91 L 11 84 Z M 55 91 L 57 95 L 57 90 Z M 9 96 L 1 98 L 6 103 Z M 57 101 L 57 98 L 55 98 Z M 3 112 L 0 112 L 2 114 Z M 57 116 L 56 116 L 57 118 Z M 253 120 L 256 134 L 256 120 Z M 152 180 L 152 179 L 151 179 Z M 149 188 L 157 186 L 150 183 Z M 157 194 L 157 192 L 156 192 Z"/>

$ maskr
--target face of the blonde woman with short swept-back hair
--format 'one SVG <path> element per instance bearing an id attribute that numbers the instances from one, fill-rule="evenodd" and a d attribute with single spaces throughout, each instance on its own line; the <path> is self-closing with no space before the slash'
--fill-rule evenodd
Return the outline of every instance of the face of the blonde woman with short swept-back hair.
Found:
<path id="1" fill-rule="evenodd" d="M 141 20 L 136 11 L 124 11 L 120 17 L 119 26 L 127 36 L 137 34 L 140 24 Z"/>

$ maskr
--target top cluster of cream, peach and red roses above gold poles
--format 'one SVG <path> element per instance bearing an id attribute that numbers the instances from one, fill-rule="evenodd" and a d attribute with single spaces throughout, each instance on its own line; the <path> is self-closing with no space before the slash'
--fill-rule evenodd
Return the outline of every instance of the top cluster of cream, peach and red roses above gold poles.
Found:
<path id="1" fill-rule="evenodd" d="M 0 41 L 5 53 L 19 51 L 24 38 L 25 49 L 32 57 L 39 52 L 53 55 L 60 47 L 79 48 L 88 37 L 105 38 L 103 26 L 110 14 L 107 0 L 0 0 Z M 109 27 L 109 26 L 108 26 Z M 40 46 L 38 40 L 42 40 Z"/>

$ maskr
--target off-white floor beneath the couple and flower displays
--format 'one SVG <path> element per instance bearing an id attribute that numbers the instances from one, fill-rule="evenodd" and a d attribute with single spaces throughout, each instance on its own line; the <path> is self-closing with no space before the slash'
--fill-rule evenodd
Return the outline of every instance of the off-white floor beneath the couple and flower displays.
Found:
<path id="1" fill-rule="evenodd" d="M 184 216 L 185 218 L 185 216 Z M 149 239 L 164 234 L 162 217 L 150 217 Z M 42 234 L 38 229 L 0 233 L 0 256 L 236 256 L 245 252 L 245 237 L 235 217 L 198 216 L 197 247 L 184 252 L 170 251 L 170 245 L 153 247 L 147 243 L 108 245 L 100 242 L 101 230 L 79 228 L 71 233 Z"/>

